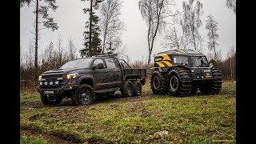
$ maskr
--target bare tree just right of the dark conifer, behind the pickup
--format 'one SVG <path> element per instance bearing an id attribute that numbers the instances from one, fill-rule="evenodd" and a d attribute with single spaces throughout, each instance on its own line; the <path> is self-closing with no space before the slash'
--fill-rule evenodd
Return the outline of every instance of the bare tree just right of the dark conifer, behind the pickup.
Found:
<path id="1" fill-rule="evenodd" d="M 100 7 L 100 29 L 102 30 L 102 53 L 115 51 L 122 47 L 122 30 L 125 30 L 121 15 L 121 0 L 106 0 Z"/>

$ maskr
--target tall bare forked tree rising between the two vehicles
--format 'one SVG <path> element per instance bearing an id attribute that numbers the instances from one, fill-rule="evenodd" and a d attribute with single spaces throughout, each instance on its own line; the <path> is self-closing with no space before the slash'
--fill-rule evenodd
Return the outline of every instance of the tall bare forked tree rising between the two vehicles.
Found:
<path id="1" fill-rule="evenodd" d="M 173 2 L 173 1 L 171 1 Z M 147 45 L 148 45 L 148 66 L 150 66 L 154 40 L 158 33 L 166 25 L 165 18 L 174 16 L 169 10 L 170 2 L 167 0 L 140 0 L 138 7 L 141 10 L 142 18 L 146 21 L 147 28 Z"/>

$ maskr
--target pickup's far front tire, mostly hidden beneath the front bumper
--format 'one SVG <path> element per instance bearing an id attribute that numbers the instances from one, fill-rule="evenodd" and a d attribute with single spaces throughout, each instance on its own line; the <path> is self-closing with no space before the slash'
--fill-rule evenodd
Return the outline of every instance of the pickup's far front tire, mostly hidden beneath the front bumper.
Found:
<path id="1" fill-rule="evenodd" d="M 47 97 L 47 94 L 40 94 L 40 98 L 41 98 L 42 104 L 46 106 L 58 106 L 63 99 L 60 95 L 56 95 L 54 96 L 54 99 L 50 100 L 50 98 Z"/>

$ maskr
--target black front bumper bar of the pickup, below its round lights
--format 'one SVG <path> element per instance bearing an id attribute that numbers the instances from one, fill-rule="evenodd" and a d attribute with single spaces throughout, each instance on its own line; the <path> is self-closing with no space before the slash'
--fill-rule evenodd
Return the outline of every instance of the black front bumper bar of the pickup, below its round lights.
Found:
<path id="1" fill-rule="evenodd" d="M 80 85 L 70 85 L 70 86 L 62 86 L 58 88 L 45 88 L 42 89 L 39 86 L 37 86 L 38 93 L 42 94 L 44 91 L 51 90 L 54 91 L 54 94 L 62 94 L 66 90 L 76 90 Z"/>

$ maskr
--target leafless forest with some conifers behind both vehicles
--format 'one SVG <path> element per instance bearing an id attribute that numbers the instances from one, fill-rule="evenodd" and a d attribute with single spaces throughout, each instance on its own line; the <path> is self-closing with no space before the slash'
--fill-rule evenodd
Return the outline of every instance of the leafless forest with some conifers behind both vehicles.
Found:
<path id="1" fill-rule="evenodd" d="M 95 54 L 114 52 L 118 57 L 130 62 L 125 54 L 126 46 L 122 44 L 122 31 L 126 24 L 121 21 L 122 0 L 82 0 L 88 2 L 89 7 L 83 9 L 89 15 L 85 23 L 84 44 L 82 49 L 74 46 L 72 38 L 68 43 L 63 43 L 61 36 L 58 44 L 54 47 L 51 41 L 42 54 L 38 54 L 38 31 L 42 29 L 58 30 L 58 23 L 50 17 L 49 11 L 58 9 L 56 0 L 20 0 L 20 7 L 34 6 L 34 40 L 25 55 L 21 56 L 20 80 L 21 89 L 33 88 L 37 83 L 38 74 L 46 70 L 52 70 L 62 66 L 65 62 L 76 58 L 87 57 Z M 148 58 L 141 61 L 130 62 L 134 68 L 150 68 L 152 65 L 152 50 L 154 40 L 162 34 L 162 47 L 172 49 L 194 49 L 201 51 L 202 36 L 198 28 L 202 26 L 203 3 L 194 0 L 183 1 L 182 10 L 172 10 L 173 0 L 140 0 L 139 10 L 147 26 Z M 226 0 L 226 7 L 236 14 L 236 1 Z M 97 13 L 96 13 L 97 12 Z M 207 14 L 206 30 L 208 31 L 205 41 L 208 42 L 207 57 L 222 71 L 225 80 L 236 79 L 236 48 L 230 46 L 230 52 L 222 59 L 222 49 L 218 47 L 218 22 L 214 16 Z M 166 28 L 166 24 L 173 22 L 175 25 Z M 178 33 L 178 26 L 182 27 L 182 34 Z M 81 46 L 79 46 L 81 47 Z M 144 49 L 144 48 L 143 48 Z M 80 55 L 75 54 L 79 52 Z M 150 71 L 148 71 L 150 73 Z"/>

